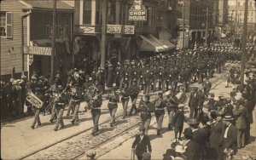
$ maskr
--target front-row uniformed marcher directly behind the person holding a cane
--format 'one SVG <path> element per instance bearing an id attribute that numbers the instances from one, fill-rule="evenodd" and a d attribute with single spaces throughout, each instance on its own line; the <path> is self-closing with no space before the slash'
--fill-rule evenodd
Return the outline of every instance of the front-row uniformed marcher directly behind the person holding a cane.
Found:
<path id="1" fill-rule="evenodd" d="M 154 112 L 154 104 L 149 101 L 150 96 L 145 95 L 145 100 L 140 100 L 138 111 L 140 111 L 141 126 L 145 129 L 144 134 L 148 135 L 148 129 L 151 122 L 151 117 Z"/>

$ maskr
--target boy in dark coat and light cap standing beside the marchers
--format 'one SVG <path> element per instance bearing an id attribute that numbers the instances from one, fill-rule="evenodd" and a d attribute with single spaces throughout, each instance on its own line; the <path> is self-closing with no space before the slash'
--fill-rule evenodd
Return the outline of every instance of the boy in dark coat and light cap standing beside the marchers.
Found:
<path id="1" fill-rule="evenodd" d="M 181 134 L 183 132 L 183 122 L 184 122 L 183 108 L 184 108 L 184 105 L 179 104 L 177 106 L 177 111 L 175 112 L 174 117 L 172 118 L 172 126 L 174 127 L 176 141 L 181 140 Z M 178 134 L 178 139 L 177 139 L 177 134 Z"/>

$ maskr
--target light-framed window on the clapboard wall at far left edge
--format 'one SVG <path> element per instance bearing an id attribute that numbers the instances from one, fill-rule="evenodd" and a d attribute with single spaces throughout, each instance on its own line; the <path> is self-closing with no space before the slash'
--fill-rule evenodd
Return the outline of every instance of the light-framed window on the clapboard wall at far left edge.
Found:
<path id="1" fill-rule="evenodd" d="M 10 12 L 0 12 L 0 36 L 13 37 L 13 14 Z"/>

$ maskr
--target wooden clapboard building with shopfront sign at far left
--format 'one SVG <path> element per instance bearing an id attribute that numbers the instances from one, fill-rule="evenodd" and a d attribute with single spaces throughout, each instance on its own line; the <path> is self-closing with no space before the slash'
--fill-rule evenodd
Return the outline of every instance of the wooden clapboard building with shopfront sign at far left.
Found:
<path id="1" fill-rule="evenodd" d="M 52 11 L 52 0 L 1 2 L 1 78 L 49 74 Z M 73 8 L 61 1 L 57 1 L 55 27 L 55 71 L 64 72 L 73 62 Z"/>

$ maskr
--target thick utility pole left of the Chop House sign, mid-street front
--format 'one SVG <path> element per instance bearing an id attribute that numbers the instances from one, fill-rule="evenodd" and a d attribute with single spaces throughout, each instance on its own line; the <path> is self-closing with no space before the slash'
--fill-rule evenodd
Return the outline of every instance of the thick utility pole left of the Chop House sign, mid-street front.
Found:
<path id="1" fill-rule="evenodd" d="M 101 67 L 105 68 L 106 37 L 107 37 L 107 14 L 108 0 L 102 0 L 102 43 L 101 43 Z"/>

